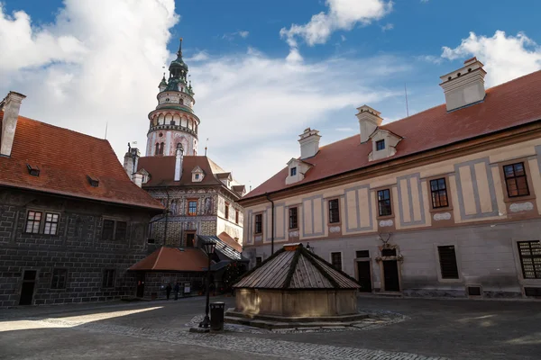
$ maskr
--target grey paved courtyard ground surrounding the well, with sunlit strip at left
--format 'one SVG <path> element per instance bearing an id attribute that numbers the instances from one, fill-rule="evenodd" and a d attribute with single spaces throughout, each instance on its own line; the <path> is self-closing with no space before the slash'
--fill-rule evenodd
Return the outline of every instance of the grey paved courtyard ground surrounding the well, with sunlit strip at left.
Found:
<path id="1" fill-rule="evenodd" d="M 212 298 L 232 307 L 233 298 Z M 540 359 L 541 302 L 360 297 L 406 320 L 326 333 L 194 334 L 204 298 L 0 311 L 0 359 Z"/>

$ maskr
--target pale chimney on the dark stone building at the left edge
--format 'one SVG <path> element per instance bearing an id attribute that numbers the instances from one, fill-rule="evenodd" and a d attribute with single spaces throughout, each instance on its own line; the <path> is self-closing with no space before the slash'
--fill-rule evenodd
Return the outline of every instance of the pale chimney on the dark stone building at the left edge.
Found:
<path id="1" fill-rule="evenodd" d="M 26 95 L 10 91 L 0 102 L 0 109 L 4 110 L 2 120 L 2 134 L 0 137 L 0 156 L 9 157 L 14 145 L 15 129 L 19 118 L 19 109 Z"/>

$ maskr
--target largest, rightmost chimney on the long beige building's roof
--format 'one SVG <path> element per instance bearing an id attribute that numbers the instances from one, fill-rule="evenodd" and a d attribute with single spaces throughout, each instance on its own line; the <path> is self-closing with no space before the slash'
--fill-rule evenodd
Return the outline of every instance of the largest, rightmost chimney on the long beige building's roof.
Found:
<path id="1" fill-rule="evenodd" d="M 463 67 L 440 76 L 443 81 L 440 86 L 444 89 L 448 112 L 484 99 L 484 76 L 487 72 L 482 67 L 481 61 L 470 58 L 464 61 Z"/>

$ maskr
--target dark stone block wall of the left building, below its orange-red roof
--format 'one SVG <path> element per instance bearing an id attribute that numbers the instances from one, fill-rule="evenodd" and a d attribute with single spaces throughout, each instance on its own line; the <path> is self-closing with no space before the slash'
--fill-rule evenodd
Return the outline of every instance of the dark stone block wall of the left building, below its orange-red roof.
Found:
<path id="1" fill-rule="evenodd" d="M 28 234 L 28 211 L 60 214 L 57 235 Z M 32 304 L 104 302 L 135 295 L 126 270 L 147 255 L 147 227 L 155 213 L 102 202 L 0 188 L 0 307 L 20 302 L 25 270 L 35 270 Z M 127 222 L 125 239 L 102 239 L 103 220 Z M 64 289 L 51 289 L 53 269 L 67 269 Z M 105 269 L 115 285 L 103 288 Z"/>

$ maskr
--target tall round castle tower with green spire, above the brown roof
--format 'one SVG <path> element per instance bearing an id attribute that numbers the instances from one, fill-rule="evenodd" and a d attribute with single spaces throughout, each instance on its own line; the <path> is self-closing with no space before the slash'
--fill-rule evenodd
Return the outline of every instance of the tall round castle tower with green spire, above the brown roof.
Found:
<path id="1" fill-rule="evenodd" d="M 199 118 L 193 111 L 194 91 L 188 84 L 188 65 L 182 60 L 182 39 L 171 61 L 169 79 L 161 79 L 158 106 L 149 113 L 146 156 L 175 156 L 179 144 L 185 155 L 197 155 Z"/>

